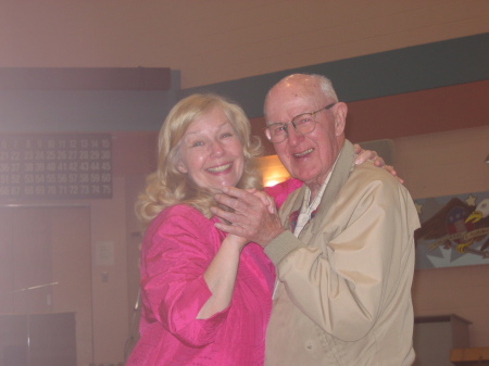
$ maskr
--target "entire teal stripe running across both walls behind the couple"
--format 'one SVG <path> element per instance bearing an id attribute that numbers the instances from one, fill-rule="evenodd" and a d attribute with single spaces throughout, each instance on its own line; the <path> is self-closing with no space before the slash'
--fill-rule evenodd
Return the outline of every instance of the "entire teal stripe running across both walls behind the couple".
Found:
<path id="1" fill-rule="evenodd" d="M 347 102 L 489 79 L 489 33 L 287 70 L 199 88 L 170 90 L 0 90 L 0 132 L 159 130 L 174 103 L 213 91 L 263 115 L 266 91 L 297 72 L 329 76 Z M 0 88 L 2 89 L 2 88 Z"/>

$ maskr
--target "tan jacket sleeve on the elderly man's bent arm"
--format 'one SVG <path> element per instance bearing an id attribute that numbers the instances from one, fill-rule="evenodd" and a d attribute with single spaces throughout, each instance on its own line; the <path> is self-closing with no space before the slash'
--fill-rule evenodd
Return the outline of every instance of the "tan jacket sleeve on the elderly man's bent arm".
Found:
<path id="1" fill-rule="evenodd" d="M 308 244 L 286 231 L 265 248 L 293 304 L 344 341 L 372 329 L 402 274 L 413 270 L 418 225 L 403 187 L 371 181 L 353 191 L 354 198 L 343 194 L 335 202 Z"/>

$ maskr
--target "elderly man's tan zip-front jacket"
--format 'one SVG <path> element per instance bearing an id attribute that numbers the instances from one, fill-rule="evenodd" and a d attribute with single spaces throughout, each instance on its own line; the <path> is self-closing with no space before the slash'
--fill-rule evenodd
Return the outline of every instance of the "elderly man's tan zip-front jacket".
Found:
<path id="1" fill-rule="evenodd" d="M 265 253 L 279 279 L 266 337 L 267 366 L 411 365 L 414 230 L 408 190 L 347 140 L 316 216 Z M 280 209 L 285 227 L 304 187 Z"/>

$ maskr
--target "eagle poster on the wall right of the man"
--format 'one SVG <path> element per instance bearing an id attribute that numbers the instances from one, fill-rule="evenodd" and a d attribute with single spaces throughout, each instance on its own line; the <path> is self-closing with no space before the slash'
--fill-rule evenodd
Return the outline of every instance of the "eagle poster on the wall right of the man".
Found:
<path id="1" fill-rule="evenodd" d="M 416 269 L 489 264 L 489 191 L 414 203 Z"/>

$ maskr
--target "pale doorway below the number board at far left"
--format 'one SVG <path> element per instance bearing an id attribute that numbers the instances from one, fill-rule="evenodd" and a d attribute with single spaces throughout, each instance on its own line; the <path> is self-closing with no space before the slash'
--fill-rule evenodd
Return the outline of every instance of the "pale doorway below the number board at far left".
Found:
<path id="1" fill-rule="evenodd" d="M 11 327 L 0 330 L 0 366 L 12 356 L 23 359 L 24 351 L 25 365 L 43 365 L 46 350 L 35 345 L 47 344 L 53 331 L 64 342 L 60 355 L 65 354 L 71 336 L 63 336 L 62 329 L 75 333 L 77 365 L 91 363 L 91 293 L 89 206 L 0 207 L 0 314 Z M 24 339 L 26 332 L 29 337 L 32 319 L 43 324 L 39 343 Z M 54 343 L 53 339 L 49 343 L 51 351 Z"/>

